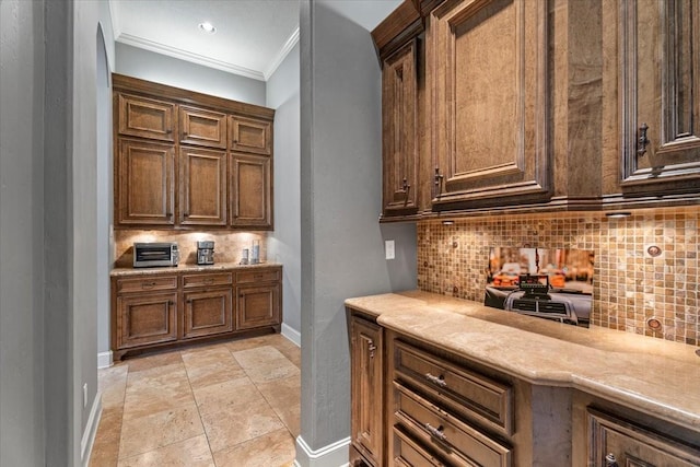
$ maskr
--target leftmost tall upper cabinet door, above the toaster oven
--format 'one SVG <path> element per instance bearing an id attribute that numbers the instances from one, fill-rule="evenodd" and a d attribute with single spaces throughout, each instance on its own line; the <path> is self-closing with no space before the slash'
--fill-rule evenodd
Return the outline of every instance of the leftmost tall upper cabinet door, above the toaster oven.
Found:
<path id="1" fill-rule="evenodd" d="M 119 140 L 115 217 L 121 225 L 174 225 L 175 150 L 171 144 Z"/>

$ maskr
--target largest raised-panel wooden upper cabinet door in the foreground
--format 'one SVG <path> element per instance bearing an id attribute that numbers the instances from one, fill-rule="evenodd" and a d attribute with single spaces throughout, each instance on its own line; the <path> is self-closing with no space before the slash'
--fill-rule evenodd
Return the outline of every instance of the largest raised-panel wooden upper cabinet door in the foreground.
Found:
<path id="1" fill-rule="evenodd" d="M 549 199 L 547 2 L 451 1 L 430 20 L 433 209 Z"/>

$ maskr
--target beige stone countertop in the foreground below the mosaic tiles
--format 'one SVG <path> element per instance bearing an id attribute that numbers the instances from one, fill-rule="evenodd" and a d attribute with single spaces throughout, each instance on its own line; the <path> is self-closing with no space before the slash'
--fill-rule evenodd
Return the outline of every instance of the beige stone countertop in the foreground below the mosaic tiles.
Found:
<path id="1" fill-rule="evenodd" d="M 696 347 L 419 291 L 348 299 L 346 305 L 529 383 L 572 387 L 700 431 Z"/>

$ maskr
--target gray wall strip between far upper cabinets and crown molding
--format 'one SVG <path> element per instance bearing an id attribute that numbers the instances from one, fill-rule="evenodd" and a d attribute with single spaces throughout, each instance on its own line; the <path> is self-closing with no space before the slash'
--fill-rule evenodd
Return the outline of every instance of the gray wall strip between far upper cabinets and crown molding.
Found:
<path id="1" fill-rule="evenodd" d="M 116 45 L 115 71 L 219 97 L 265 105 L 265 81 L 240 77 L 126 44 Z"/>

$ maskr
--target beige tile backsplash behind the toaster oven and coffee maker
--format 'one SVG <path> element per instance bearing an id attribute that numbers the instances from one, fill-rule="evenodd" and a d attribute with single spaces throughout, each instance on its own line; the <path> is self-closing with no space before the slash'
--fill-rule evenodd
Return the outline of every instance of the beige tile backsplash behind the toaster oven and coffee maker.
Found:
<path id="1" fill-rule="evenodd" d="M 241 250 L 250 249 L 254 240 L 260 242 L 260 261 L 267 261 L 266 232 L 170 232 L 115 231 L 115 267 L 133 265 L 133 244 L 137 242 L 177 242 L 180 264 L 197 264 L 197 242 L 214 241 L 214 262 L 240 262 Z"/>

